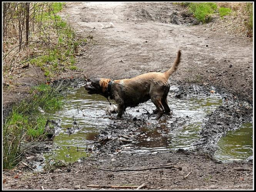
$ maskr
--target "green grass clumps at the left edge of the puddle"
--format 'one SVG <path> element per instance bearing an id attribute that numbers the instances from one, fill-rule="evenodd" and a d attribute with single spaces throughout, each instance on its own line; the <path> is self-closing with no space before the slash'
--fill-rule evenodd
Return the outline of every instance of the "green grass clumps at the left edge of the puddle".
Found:
<path id="1" fill-rule="evenodd" d="M 12 169 L 19 163 L 27 150 L 21 147 L 21 143 L 33 143 L 46 138 L 44 128 L 47 118 L 38 109 L 59 110 L 62 107 L 62 95 L 59 92 L 61 88 L 63 89 L 62 83 L 57 86 L 41 84 L 31 89 L 31 101 L 23 100 L 13 104 L 2 126 L 3 169 Z"/>

